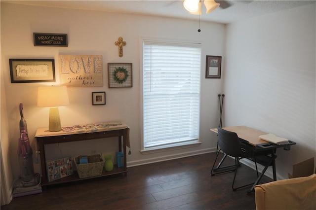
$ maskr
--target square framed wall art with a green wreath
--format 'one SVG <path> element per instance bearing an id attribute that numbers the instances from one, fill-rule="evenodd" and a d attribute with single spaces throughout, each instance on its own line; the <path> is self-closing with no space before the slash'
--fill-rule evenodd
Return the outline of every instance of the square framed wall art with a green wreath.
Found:
<path id="1" fill-rule="evenodd" d="M 132 63 L 108 63 L 109 88 L 133 87 Z"/>

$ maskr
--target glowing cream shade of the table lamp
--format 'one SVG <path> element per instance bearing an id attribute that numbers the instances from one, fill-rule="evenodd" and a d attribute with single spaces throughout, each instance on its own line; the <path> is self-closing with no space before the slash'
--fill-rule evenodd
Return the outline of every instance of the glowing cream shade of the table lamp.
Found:
<path id="1" fill-rule="evenodd" d="M 47 86 L 38 89 L 38 106 L 55 107 L 69 105 L 67 86 Z"/>

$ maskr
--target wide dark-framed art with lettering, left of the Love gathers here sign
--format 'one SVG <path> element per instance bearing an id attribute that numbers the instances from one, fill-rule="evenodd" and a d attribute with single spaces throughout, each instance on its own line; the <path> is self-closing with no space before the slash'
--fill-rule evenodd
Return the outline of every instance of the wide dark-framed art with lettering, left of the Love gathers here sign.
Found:
<path id="1" fill-rule="evenodd" d="M 54 59 L 9 59 L 11 83 L 55 82 Z"/>

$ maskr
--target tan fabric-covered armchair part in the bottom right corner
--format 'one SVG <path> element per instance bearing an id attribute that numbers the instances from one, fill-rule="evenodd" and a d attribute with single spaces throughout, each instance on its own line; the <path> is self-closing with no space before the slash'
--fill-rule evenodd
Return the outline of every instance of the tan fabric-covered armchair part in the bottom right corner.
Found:
<path id="1" fill-rule="evenodd" d="M 316 210 L 316 174 L 255 186 L 257 210 Z"/>

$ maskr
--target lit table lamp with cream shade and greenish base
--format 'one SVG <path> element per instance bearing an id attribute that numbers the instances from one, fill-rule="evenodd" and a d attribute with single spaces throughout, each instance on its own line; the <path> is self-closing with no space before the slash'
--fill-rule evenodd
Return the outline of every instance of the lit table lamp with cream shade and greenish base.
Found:
<path id="1" fill-rule="evenodd" d="M 69 105 L 67 86 L 46 86 L 38 89 L 38 106 L 50 107 L 49 126 L 51 132 L 61 131 L 58 106 Z"/>

